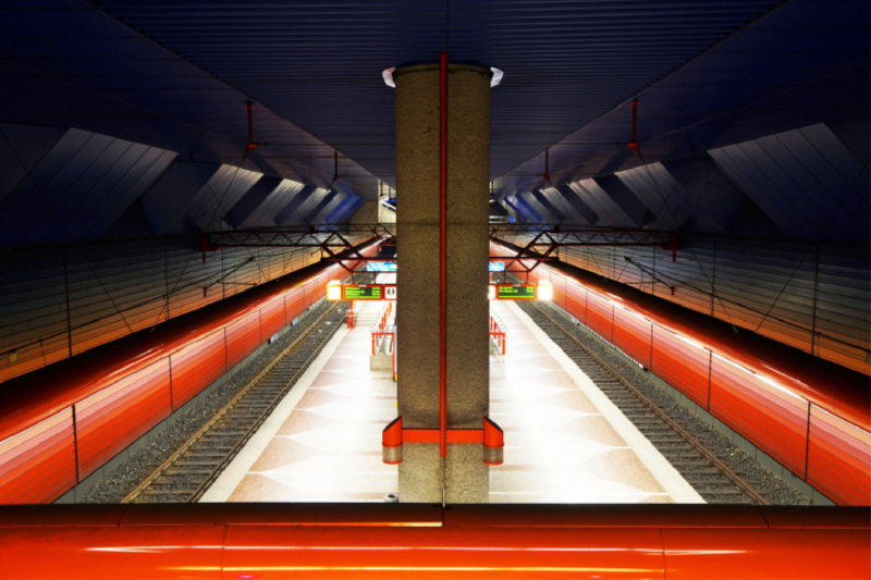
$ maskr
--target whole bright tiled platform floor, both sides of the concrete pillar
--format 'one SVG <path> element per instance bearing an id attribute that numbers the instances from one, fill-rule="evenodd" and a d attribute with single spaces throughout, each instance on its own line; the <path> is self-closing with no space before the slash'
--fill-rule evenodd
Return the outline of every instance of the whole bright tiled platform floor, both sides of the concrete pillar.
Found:
<path id="1" fill-rule="evenodd" d="M 505 464 L 490 469 L 491 502 L 701 501 L 526 314 L 492 304 L 508 342 L 507 355 L 490 360 L 490 416 L 506 445 Z M 381 502 L 396 493 L 397 468 L 381 462 L 396 387 L 390 373 L 369 371 L 369 323 L 340 330 L 203 501 Z"/>

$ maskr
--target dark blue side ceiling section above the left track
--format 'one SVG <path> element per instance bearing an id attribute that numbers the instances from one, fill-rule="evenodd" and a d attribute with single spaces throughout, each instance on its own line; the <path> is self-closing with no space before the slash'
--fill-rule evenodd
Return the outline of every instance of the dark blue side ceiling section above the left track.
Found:
<path id="1" fill-rule="evenodd" d="M 334 148 L 259 102 L 253 116 L 261 147 L 246 156 L 250 97 L 237 84 L 192 66 L 90 4 L 19 3 L 3 11 L 0 38 L 2 122 L 78 127 L 321 186 L 332 178 Z M 296 78 L 294 85 L 305 85 Z M 375 196 L 371 174 L 343 156 L 339 164 L 357 193 Z"/>

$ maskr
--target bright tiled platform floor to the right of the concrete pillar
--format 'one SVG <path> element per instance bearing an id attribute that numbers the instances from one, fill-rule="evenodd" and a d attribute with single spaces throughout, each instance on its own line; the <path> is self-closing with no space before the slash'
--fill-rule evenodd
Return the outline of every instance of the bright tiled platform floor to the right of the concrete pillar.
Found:
<path id="1" fill-rule="evenodd" d="M 490 417 L 505 431 L 505 464 L 490 468 L 491 503 L 698 498 L 664 458 L 639 458 L 655 451 L 635 448 L 640 433 L 519 308 L 491 305 L 508 328 L 506 356 L 490 357 Z"/>

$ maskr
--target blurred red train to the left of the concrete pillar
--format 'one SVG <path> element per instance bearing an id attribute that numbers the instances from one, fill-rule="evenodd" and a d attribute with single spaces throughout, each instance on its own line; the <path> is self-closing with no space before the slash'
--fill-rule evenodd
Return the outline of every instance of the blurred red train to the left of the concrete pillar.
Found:
<path id="1" fill-rule="evenodd" d="M 0 504 L 63 495 L 323 298 L 343 272 L 311 266 L 4 383 Z"/>

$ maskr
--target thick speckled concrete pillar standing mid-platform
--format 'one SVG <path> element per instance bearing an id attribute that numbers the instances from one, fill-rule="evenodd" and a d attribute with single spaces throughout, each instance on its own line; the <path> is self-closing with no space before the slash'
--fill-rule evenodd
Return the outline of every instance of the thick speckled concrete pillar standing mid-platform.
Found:
<path id="1" fill-rule="evenodd" d="M 439 428 L 439 66 L 395 71 L 398 412 Z M 489 412 L 490 77 L 449 67 L 447 427 L 480 429 Z M 486 503 L 481 446 L 404 445 L 400 501 Z"/>

